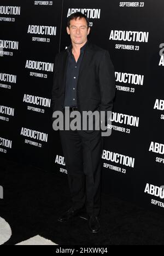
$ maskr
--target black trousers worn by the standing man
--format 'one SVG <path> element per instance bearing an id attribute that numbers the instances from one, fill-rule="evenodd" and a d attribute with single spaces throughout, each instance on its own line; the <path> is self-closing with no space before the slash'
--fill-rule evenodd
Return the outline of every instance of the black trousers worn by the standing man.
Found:
<path id="1" fill-rule="evenodd" d="M 84 205 L 89 215 L 101 210 L 103 137 L 101 130 L 60 130 L 74 209 Z"/>

